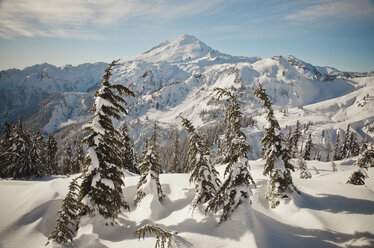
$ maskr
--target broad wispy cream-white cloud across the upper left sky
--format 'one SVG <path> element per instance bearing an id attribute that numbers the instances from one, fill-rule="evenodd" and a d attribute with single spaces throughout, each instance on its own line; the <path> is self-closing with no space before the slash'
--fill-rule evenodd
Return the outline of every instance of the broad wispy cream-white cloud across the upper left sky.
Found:
<path id="1" fill-rule="evenodd" d="M 100 35 L 92 31 L 92 27 L 105 28 L 132 18 L 170 20 L 193 16 L 212 9 L 221 2 L 222 0 L 2 0 L 0 37 L 97 39 Z"/>

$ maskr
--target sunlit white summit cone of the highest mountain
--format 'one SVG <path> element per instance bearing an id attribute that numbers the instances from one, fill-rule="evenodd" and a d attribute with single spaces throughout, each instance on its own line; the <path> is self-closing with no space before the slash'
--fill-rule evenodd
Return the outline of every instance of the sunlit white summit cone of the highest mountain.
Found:
<path id="1" fill-rule="evenodd" d="M 165 41 L 160 43 L 136 57 L 136 59 L 147 62 L 183 62 L 202 58 L 208 54 L 219 54 L 219 52 L 207 46 L 196 37 L 184 34 L 171 42 Z"/>

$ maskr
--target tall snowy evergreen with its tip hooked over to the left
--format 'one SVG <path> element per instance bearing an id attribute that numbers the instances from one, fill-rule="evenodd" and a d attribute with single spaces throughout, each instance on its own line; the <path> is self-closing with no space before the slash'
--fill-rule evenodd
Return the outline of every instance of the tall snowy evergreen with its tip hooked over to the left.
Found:
<path id="1" fill-rule="evenodd" d="M 248 163 L 250 146 L 245 134 L 240 130 L 242 113 L 237 96 L 221 88 L 214 90 L 217 92 L 218 100 L 225 97 L 230 103 L 225 117 L 232 139 L 227 151 L 229 160 L 225 169 L 225 180 L 217 194 L 209 201 L 206 211 L 217 212 L 220 207 L 223 207 L 220 219 L 220 222 L 223 222 L 243 201 L 249 199 L 252 194 L 250 184 L 254 184 L 254 181 Z"/>

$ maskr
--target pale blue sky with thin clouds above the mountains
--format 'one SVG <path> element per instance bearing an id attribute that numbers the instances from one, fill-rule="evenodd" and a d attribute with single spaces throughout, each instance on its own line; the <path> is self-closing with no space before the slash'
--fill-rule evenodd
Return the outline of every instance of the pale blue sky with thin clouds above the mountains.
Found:
<path id="1" fill-rule="evenodd" d="M 231 55 L 374 71 L 373 0 L 0 0 L 0 69 L 130 59 L 183 34 Z"/>

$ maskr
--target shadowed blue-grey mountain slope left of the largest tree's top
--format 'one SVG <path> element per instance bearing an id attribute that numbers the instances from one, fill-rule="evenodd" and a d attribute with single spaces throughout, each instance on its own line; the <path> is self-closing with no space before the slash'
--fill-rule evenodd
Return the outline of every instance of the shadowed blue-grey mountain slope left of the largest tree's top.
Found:
<path id="1" fill-rule="evenodd" d="M 62 92 L 87 92 L 101 81 L 107 64 L 56 67 L 40 64 L 0 71 L 0 124 L 39 112 L 42 101 Z M 44 104 L 48 104 L 45 102 Z"/>

